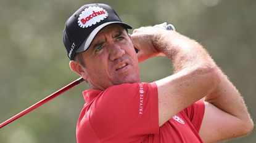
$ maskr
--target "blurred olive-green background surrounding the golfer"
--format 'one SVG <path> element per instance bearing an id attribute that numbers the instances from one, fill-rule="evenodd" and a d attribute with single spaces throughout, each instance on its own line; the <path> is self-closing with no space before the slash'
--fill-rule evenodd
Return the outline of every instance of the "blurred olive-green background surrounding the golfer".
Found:
<path id="1" fill-rule="evenodd" d="M 78 78 L 62 44 L 65 21 L 83 4 L 96 1 L 0 0 L 0 122 Z M 167 21 L 209 50 L 244 96 L 256 122 L 256 1 L 97 1 L 114 7 L 133 28 Z M 132 31 L 130 31 L 131 33 Z M 171 74 L 167 58 L 140 64 L 141 79 Z M 85 103 L 86 83 L 67 91 L 0 129 L 3 143 L 76 142 L 75 128 Z M 232 101 L 231 101 L 232 102 Z M 220 118 L 221 120 L 221 118 Z M 228 142 L 256 142 L 249 136 Z"/>

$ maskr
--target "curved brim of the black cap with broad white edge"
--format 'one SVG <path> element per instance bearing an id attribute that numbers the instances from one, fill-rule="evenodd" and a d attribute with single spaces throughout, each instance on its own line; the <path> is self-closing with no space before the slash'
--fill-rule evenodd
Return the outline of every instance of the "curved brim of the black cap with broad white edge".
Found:
<path id="1" fill-rule="evenodd" d="M 126 25 L 125 23 L 120 22 L 120 21 L 110 21 L 110 22 L 103 23 L 102 25 L 97 26 L 97 28 L 95 28 L 91 32 L 91 34 L 89 34 L 89 36 L 85 39 L 85 41 L 83 41 L 83 43 L 78 47 L 78 49 L 76 50 L 76 53 L 85 52 L 91 45 L 91 42 L 93 42 L 93 39 L 96 36 L 96 34 L 99 33 L 99 31 L 101 31 L 101 29 L 104 28 L 105 26 L 111 25 L 114 23 L 122 25 L 124 28 L 132 29 L 130 25 Z"/>

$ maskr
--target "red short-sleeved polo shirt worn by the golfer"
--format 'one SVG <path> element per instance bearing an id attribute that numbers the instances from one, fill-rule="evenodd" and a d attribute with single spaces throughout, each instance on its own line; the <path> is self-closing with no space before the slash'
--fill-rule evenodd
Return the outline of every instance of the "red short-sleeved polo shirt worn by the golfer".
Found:
<path id="1" fill-rule="evenodd" d="M 199 129 L 204 102 L 199 101 L 159 127 L 155 83 L 124 83 L 104 91 L 83 92 L 86 104 L 76 126 L 78 143 L 202 142 Z"/>

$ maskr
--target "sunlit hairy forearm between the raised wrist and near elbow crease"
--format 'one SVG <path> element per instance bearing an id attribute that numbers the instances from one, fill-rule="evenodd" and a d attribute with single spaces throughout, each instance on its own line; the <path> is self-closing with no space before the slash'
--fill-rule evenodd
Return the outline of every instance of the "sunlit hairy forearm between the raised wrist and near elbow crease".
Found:
<path id="1" fill-rule="evenodd" d="M 170 33 L 162 36 L 159 41 L 163 44 L 159 45 L 165 47 L 162 53 L 170 58 L 175 72 L 184 68 L 217 68 L 208 52 L 198 42 L 173 31 Z"/>

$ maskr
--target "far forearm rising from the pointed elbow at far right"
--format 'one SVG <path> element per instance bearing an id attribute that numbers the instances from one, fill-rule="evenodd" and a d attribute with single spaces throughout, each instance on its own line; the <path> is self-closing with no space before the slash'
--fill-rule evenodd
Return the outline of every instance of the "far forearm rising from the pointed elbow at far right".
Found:
<path id="1" fill-rule="evenodd" d="M 228 80 L 226 75 L 221 70 L 219 72 L 220 83 L 210 95 L 205 96 L 205 101 L 212 103 L 219 109 L 239 119 L 241 121 L 240 131 L 244 129 L 246 132 L 253 127 L 253 123 L 247 112 L 244 99 L 242 99 L 239 91 Z"/>

